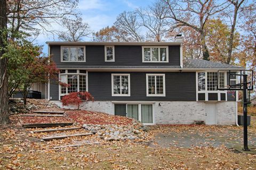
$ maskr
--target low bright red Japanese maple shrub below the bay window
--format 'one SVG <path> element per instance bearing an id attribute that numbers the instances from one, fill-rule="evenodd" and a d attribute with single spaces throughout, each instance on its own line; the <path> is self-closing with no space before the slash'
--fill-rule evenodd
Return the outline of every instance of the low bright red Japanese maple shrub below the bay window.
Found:
<path id="1" fill-rule="evenodd" d="M 77 110 L 83 101 L 93 101 L 94 98 L 89 92 L 71 92 L 68 95 L 62 97 L 61 102 L 62 106 L 75 105 Z"/>

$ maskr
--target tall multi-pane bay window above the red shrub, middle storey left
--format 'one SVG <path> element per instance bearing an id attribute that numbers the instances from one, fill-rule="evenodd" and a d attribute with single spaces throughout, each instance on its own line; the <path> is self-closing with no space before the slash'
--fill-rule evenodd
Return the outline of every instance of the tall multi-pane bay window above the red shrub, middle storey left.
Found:
<path id="1" fill-rule="evenodd" d="M 60 70 L 60 82 L 60 99 L 71 92 L 88 91 L 85 70 Z"/>

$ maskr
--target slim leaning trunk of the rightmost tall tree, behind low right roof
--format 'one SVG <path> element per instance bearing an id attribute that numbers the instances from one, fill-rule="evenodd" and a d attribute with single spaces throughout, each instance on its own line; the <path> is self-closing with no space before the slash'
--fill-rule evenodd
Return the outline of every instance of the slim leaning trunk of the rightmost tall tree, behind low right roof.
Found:
<path id="1" fill-rule="evenodd" d="M 233 50 L 234 32 L 235 32 L 235 27 L 236 27 L 237 12 L 238 12 L 238 7 L 237 7 L 237 4 L 236 4 L 235 5 L 235 10 L 234 10 L 233 24 L 231 25 L 230 37 L 229 37 L 229 41 L 228 41 L 228 58 L 227 58 L 226 64 L 230 64 L 230 61 L 231 61 L 232 50 Z"/>

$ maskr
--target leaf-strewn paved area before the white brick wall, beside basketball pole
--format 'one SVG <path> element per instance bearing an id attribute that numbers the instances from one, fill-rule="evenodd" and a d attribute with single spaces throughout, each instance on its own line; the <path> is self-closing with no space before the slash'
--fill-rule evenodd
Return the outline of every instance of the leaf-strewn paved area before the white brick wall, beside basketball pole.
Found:
<path id="1" fill-rule="evenodd" d="M 249 145 L 256 146 L 256 134 L 249 133 Z M 158 133 L 155 137 L 155 141 L 159 147 L 201 147 L 201 146 L 213 146 L 218 147 L 225 145 L 228 148 L 233 148 L 235 145 L 243 144 L 243 131 L 228 129 L 225 133 L 220 132 L 168 132 Z M 151 142 L 149 146 L 154 147 L 154 142 Z"/>

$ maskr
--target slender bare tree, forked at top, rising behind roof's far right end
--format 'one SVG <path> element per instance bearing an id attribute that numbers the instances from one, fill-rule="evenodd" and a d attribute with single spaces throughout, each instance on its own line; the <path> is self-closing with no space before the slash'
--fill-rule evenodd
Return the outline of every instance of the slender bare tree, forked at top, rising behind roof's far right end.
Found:
<path id="1" fill-rule="evenodd" d="M 228 58 L 226 64 L 229 64 L 231 61 L 232 51 L 233 51 L 233 41 L 234 41 L 234 33 L 236 28 L 236 20 L 237 20 L 237 14 L 239 12 L 239 8 L 241 8 L 241 5 L 244 3 L 244 0 L 238 1 L 238 0 L 227 0 L 233 7 L 233 12 L 228 12 L 227 15 L 230 17 L 230 14 L 233 16 L 233 19 L 231 19 L 231 30 L 230 30 L 230 37 L 228 40 Z"/>

